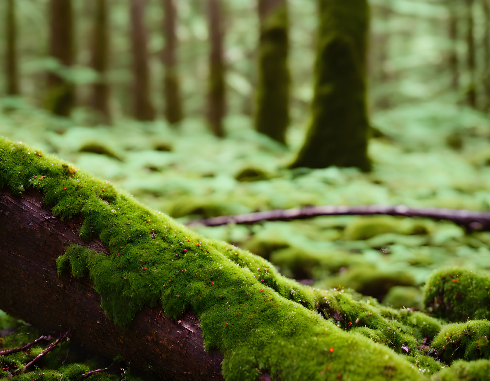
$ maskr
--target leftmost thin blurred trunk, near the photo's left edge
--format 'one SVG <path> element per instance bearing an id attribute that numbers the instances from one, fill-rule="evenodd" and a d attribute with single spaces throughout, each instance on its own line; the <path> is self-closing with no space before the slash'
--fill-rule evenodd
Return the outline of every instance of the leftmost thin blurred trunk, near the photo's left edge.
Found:
<path id="1" fill-rule="evenodd" d="M 7 0 L 5 12 L 5 76 L 7 95 L 19 94 L 17 70 L 17 24 L 15 20 L 15 0 Z"/>

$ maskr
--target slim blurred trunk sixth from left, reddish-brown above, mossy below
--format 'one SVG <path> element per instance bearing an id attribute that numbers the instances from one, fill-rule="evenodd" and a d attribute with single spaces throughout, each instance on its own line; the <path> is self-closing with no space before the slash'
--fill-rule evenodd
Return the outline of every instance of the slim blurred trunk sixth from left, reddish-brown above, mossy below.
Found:
<path id="1" fill-rule="evenodd" d="M 209 24 L 209 88 L 207 117 L 216 136 L 224 136 L 224 57 L 221 0 L 207 0 Z"/>

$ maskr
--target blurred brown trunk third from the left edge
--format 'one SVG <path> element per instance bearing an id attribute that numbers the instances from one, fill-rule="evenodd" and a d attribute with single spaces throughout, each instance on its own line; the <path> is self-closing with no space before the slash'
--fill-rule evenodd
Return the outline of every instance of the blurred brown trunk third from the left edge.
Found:
<path id="1" fill-rule="evenodd" d="M 98 72 L 98 82 L 92 89 L 92 107 L 100 114 L 101 120 L 111 123 L 111 112 L 109 107 L 110 88 L 107 84 L 107 68 L 109 62 L 109 25 L 107 0 L 96 0 L 92 68 Z"/>

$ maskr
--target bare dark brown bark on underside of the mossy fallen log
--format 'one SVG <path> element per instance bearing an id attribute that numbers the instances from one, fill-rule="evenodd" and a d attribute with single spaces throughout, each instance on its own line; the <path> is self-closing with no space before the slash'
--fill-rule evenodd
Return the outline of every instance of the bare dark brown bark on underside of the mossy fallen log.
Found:
<path id="1" fill-rule="evenodd" d="M 145 307 L 122 329 L 100 308 L 88 277 L 58 277 L 55 261 L 67 245 L 108 252 L 99 240 L 82 242 L 80 224 L 77 218 L 53 217 L 37 191 L 14 197 L 0 190 L 0 309 L 45 332 L 72 327 L 73 339 L 92 351 L 122 355 L 138 368 L 152 366 L 161 380 L 221 380 L 223 357 L 204 351 L 199 320 L 192 313 L 175 321 L 161 308 Z"/>

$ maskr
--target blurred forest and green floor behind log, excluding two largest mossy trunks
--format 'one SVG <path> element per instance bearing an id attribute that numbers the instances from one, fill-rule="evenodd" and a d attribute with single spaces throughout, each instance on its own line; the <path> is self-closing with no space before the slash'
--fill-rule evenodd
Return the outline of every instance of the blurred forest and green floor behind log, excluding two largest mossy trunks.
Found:
<path id="1" fill-rule="evenodd" d="M 490 212 L 487 0 L 369 1 L 370 171 L 289 167 L 311 118 L 316 1 L 288 1 L 285 142 L 256 131 L 255 1 L 174 1 L 174 14 L 171 1 L 55 3 L 0 3 L 6 138 L 55 153 L 181 222 L 308 205 Z M 53 42 L 50 30 L 73 35 Z M 56 44 L 63 48 L 53 57 Z M 53 81 L 66 85 L 61 102 Z M 490 233 L 447 221 L 336 216 L 195 229 L 305 284 L 351 288 L 396 308 L 422 309 L 420 286 L 442 266 L 490 270 Z"/>

